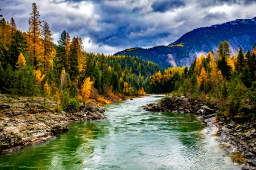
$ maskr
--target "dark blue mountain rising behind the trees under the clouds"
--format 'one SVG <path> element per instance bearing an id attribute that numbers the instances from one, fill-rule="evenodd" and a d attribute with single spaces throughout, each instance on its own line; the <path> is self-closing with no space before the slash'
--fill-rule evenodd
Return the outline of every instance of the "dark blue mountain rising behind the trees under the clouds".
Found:
<path id="1" fill-rule="evenodd" d="M 220 41 L 224 40 L 229 42 L 232 51 L 237 51 L 240 47 L 244 51 L 252 49 L 256 42 L 256 17 L 193 29 L 168 46 L 130 48 L 114 55 L 138 56 L 158 63 L 162 68 L 189 66 L 199 53 L 216 51 Z"/>

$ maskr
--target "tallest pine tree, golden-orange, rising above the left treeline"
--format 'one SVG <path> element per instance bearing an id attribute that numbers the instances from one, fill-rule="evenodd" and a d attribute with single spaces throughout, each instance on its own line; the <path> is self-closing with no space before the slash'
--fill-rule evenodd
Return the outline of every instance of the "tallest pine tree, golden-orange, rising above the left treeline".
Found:
<path id="1" fill-rule="evenodd" d="M 40 27 L 42 22 L 39 20 L 39 11 L 36 3 L 32 3 L 32 13 L 28 20 L 30 28 L 28 28 L 27 33 L 27 45 L 28 45 L 28 55 L 30 57 L 30 62 L 32 66 L 37 64 L 37 59 L 42 57 L 42 41 L 40 40 Z"/>

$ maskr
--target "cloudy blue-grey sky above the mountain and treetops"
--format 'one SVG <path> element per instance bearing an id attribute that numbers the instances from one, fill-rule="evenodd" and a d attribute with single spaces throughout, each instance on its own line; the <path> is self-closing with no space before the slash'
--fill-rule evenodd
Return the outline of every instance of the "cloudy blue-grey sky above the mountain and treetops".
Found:
<path id="1" fill-rule="evenodd" d="M 86 52 L 104 54 L 168 45 L 195 28 L 256 16 L 256 0 L 0 0 L 0 14 L 26 32 L 33 2 L 56 44 L 65 30 Z"/>

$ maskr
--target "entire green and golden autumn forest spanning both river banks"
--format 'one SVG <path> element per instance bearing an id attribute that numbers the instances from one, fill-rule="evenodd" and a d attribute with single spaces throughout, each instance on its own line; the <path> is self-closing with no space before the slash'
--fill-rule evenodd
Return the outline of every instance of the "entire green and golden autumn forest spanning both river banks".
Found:
<path id="1" fill-rule="evenodd" d="M 71 38 L 66 31 L 55 45 L 36 3 L 30 15 L 27 32 L 20 31 L 13 18 L 1 19 L 3 94 L 48 97 L 63 110 L 77 109 L 88 100 L 106 104 L 122 96 L 172 92 L 214 105 L 222 116 L 255 117 L 256 44 L 246 53 L 240 49 L 231 56 L 225 40 L 217 52 L 201 54 L 189 68 L 162 70 L 138 57 L 88 53 L 81 38 Z"/>

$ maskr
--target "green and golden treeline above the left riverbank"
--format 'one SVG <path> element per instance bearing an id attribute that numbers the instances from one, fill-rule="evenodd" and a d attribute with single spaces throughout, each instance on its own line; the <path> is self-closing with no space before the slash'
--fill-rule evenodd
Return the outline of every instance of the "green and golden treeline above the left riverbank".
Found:
<path id="1" fill-rule="evenodd" d="M 143 95 L 150 75 L 160 69 L 138 57 L 86 53 L 81 38 L 66 31 L 55 45 L 36 3 L 28 23 L 22 32 L 13 18 L 1 19 L 1 93 L 46 96 L 59 101 L 59 109 L 77 109 L 88 100 L 108 103 L 105 97 Z"/>

